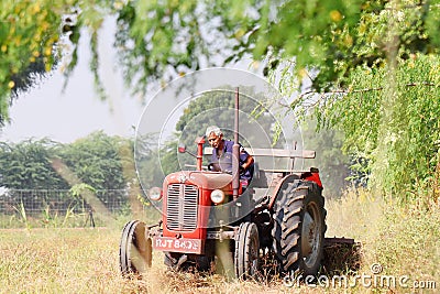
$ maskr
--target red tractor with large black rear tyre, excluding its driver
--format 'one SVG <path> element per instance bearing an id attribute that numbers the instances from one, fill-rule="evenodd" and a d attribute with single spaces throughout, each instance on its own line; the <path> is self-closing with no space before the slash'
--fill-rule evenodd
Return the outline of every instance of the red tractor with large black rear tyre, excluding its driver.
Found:
<path id="1" fill-rule="evenodd" d="M 280 272 L 316 274 L 327 228 L 322 184 L 317 168 L 293 168 L 295 159 L 314 159 L 315 151 L 246 148 L 256 163 L 267 156 L 284 159 L 292 168 L 256 164 L 252 185 L 243 193 L 237 163 L 232 175 L 204 168 L 202 157 L 209 154 L 204 143 L 197 140 L 195 171 L 172 173 L 162 188 L 151 190 L 151 200 L 162 200 L 162 220 L 152 226 L 133 220 L 123 228 L 122 274 L 146 271 L 153 249 L 163 251 L 173 269 L 204 271 L 220 263 L 246 279 L 270 258 Z"/>

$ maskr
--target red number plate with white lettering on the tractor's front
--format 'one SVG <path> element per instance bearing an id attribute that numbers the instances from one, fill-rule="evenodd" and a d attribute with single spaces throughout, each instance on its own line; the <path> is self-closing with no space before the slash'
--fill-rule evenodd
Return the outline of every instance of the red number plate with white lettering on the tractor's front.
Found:
<path id="1" fill-rule="evenodd" d="M 201 240 L 153 237 L 153 248 L 161 251 L 201 254 Z"/>

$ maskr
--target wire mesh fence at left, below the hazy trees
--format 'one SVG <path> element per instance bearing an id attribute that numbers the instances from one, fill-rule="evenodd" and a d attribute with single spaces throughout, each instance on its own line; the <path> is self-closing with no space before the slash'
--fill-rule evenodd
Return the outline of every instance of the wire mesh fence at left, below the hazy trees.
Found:
<path id="1" fill-rule="evenodd" d="M 107 226 L 133 209 L 148 209 L 128 189 L 96 190 L 91 197 L 68 189 L 8 189 L 0 194 L 0 229 Z"/>

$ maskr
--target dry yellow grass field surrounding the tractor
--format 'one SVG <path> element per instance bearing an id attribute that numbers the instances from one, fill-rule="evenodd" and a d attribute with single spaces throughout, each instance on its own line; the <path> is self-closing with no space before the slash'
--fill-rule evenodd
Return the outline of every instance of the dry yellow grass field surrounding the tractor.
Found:
<path id="1" fill-rule="evenodd" d="M 279 279 L 227 281 L 219 274 L 169 272 L 161 252 L 139 280 L 119 272 L 123 224 L 96 229 L 0 231 L 0 293 L 437 293 L 440 288 L 440 209 L 438 204 L 398 208 L 365 192 L 328 200 L 328 237 L 363 244 L 362 266 L 348 285 L 323 276 L 316 287 L 286 286 Z M 381 272 L 372 275 L 372 265 Z M 349 274 L 349 273 L 344 273 Z M 355 280 L 355 275 L 376 280 Z M 387 280 L 381 281 L 385 277 Z M 396 285 L 389 284 L 395 277 Z M 399 284 L 399 279 L 405 283 Z M 369 281 L 371 283 L 369 283 Z M 326 284 L 328 282 L 328 284 Z M 417 287 L 415 287 L 415 282 Z M 326 286 L 328 285 L 328 286 Z M 437 290 L 436 290 L 436 288 Z"/>

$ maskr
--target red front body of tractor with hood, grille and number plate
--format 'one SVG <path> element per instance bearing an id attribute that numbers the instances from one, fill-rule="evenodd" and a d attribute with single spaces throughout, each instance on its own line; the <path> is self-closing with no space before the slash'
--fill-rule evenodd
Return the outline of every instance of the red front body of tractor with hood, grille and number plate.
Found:
<path id="1" fill-rule="evenodd" d="M 184 171 L 163 184 L 163 230 L 153 238 L 162 251 L 202 254 L 211 206 L 232 196 L 232 176 L 218 172 Z"/>

